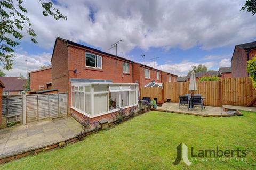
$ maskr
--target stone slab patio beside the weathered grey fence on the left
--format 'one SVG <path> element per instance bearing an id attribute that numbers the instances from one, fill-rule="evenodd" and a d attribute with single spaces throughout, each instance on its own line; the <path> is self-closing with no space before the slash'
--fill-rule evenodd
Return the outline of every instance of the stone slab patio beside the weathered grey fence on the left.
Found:
<path id="1" fill-rule="evenodd" d="M 0 130 L 0 159 L 74 138 L 83 126 L 73 117 L 17 125 Z"/>

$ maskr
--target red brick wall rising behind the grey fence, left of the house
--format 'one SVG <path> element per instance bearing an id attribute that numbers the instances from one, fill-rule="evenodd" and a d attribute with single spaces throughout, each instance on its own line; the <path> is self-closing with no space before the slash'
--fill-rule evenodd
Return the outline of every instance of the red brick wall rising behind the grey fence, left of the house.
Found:
<path id="1" fill-rule="evenodd" d="M 30 75 L 30 90 L 38 91 L 39 86 L 44 86 L 47 89 L 47 84 L 52 81 L 52 69 L 45 69 L 37 72 L 29 73 Z"/>

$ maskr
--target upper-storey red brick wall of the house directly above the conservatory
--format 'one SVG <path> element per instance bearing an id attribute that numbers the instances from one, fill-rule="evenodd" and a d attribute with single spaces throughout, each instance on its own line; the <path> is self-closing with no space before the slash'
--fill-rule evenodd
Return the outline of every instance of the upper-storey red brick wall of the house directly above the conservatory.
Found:
<path id="1" fill-rule="evenodd" d="M 85 65 L 85 52 L 90 52 L 102 56 L 102 69 L 94 69 L 86 67 Z M 113 82 L 132 83 L 133 82 L 133 69 L 132 64 L 127 61 L 117 60 L 116 58 L 95 53 L 90 50 L 77 48 L 73 46 L 68 47 L 68 69 L 69 78 L 81 78 L 81 79 L 107 79 Z M 129 63 L 130 73 L 123 73 L 123 62 Z M 77 74 L 72 70 L 77 69 Z"/>

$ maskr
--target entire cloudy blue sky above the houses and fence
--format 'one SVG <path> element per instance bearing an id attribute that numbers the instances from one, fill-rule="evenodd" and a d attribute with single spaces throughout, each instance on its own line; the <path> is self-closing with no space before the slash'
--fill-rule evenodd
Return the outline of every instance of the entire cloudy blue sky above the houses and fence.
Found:
<path id="1" fill-rule="evenodd" d="M 256 15 L 241 11 L 245 1 L 54 1 L 67 20 L 43 16 L 38 1 L 24 1 L 38 44 L 24 38 L 15 48 L 8 76 L 50 64 L 55 38 L 61 37 L 104 52 L 122 39 L 118 55 L 177 75 L 187 75 L 191 65 L 211 70 L 231 66 L 237 44 L 256 40 Z"/>

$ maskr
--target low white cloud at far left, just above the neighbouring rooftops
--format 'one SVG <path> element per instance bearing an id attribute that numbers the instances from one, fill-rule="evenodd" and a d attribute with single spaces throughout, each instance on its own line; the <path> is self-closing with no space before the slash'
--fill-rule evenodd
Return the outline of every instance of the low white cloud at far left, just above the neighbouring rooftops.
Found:
<path id="1" fill-rule="evenodd" d="M 29 55 L 27 52 L 15 53 L 13 69 L 3 70 L 7 76 L 27 75 L 26 60 L 28 61 L 28 72 L 40 69 L 41 66 L 50 64 L 51 54 L 42 53 L 40 55 Z"/>

